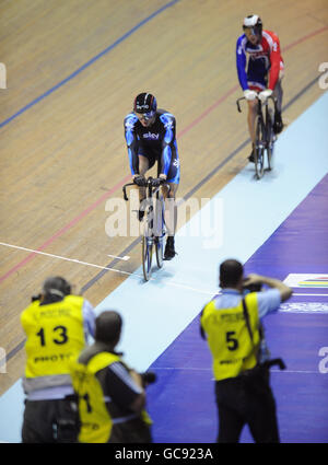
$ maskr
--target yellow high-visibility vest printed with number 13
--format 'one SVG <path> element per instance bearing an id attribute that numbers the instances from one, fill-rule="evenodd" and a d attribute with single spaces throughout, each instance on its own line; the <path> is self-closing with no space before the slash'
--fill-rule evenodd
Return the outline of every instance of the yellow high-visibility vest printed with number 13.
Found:
<path id="1" fill-rule="evenodd" d="M 34 301 L 21 314 L 26 334 L 26 379 L 69 374 L 69 362 L 85 346 L 83 298 L 40 305 Z"/>

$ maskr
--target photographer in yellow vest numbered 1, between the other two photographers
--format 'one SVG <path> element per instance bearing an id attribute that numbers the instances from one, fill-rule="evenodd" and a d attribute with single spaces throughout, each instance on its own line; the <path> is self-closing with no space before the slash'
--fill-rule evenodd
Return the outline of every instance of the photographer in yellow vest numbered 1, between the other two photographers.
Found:
<path id="1" fill-rule="evenodd" d="M 95 342 L 71 364 L 79 399 L 79 442 L 152 442 L 144 387 L 155 376 L 131 370 L 121 360 L 121 353 L 115 351 L 121 326 L 117 312 L 101 313 L 95 324 Z"/>

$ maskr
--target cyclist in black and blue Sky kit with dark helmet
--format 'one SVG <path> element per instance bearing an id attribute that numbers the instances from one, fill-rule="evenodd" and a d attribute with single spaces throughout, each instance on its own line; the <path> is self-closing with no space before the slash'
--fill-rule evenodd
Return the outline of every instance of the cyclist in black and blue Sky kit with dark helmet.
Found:
<path id="1" fill-rule="evenodd" d="M 165 198 L 165 222 L 168 236 L 164 252 L 166 260 L 172 259 L 176 252 L 174 248 L 174 234 L 177 219 L 175 195 L 180 178 L 179 156 L 176 142 L 175 117 L 165 109 L 157 108 L 154 95 L 143 92 L 134 98 L 133 112 L 125 118 L 125 137 L 128 147 L 130 170 L 133 183 L 139 186 L 140 202 L 145 198 L 145 173 L 157 162 L 159 178 L 153 185 L 160 185 L 165 179 L 169 185 L 162 186 Z M 141 221 L 144 210 L 139 209 L 138 218 Z"/>

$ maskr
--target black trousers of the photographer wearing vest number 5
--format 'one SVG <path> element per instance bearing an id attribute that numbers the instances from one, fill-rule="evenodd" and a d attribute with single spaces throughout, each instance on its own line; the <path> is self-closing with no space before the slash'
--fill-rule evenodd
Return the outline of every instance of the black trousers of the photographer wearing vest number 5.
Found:
<path id="1" fill-rule="evenodd" d="M 269 370 L 256 368 L 248 374 L 216 381 L 218 442 L 238 442 L 245 425 L 256 443 L 280 442 L 269 375 Z"/>

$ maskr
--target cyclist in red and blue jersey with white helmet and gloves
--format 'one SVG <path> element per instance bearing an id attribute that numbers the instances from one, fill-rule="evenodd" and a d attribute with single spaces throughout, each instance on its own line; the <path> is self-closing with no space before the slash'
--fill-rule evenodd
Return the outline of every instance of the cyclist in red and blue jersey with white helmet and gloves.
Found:
<path id="1" fill-rule="evenodd" d="M 265 102 L 271 95 L 277 98 L 273 130 L 276 133 L 282 131 L 281 106 L 283 92 L 281 79 L 284 73 L 284 65 L 280 54 L 278 36 L 273 32 L 262 30 L 261 19 L 257 14 L 250 14 L 244 19 L 243 30 L 244 34 L 237 39 L 236 65 L 239 83 L 244 91 L 244 96 L 248 101 L 247 121 L 254 148 L 257 95 L 261 102 Z M 246 71 L 247 54 L 249 59 Z M 253 151 L 248 160 L 254 162 Z"/>

